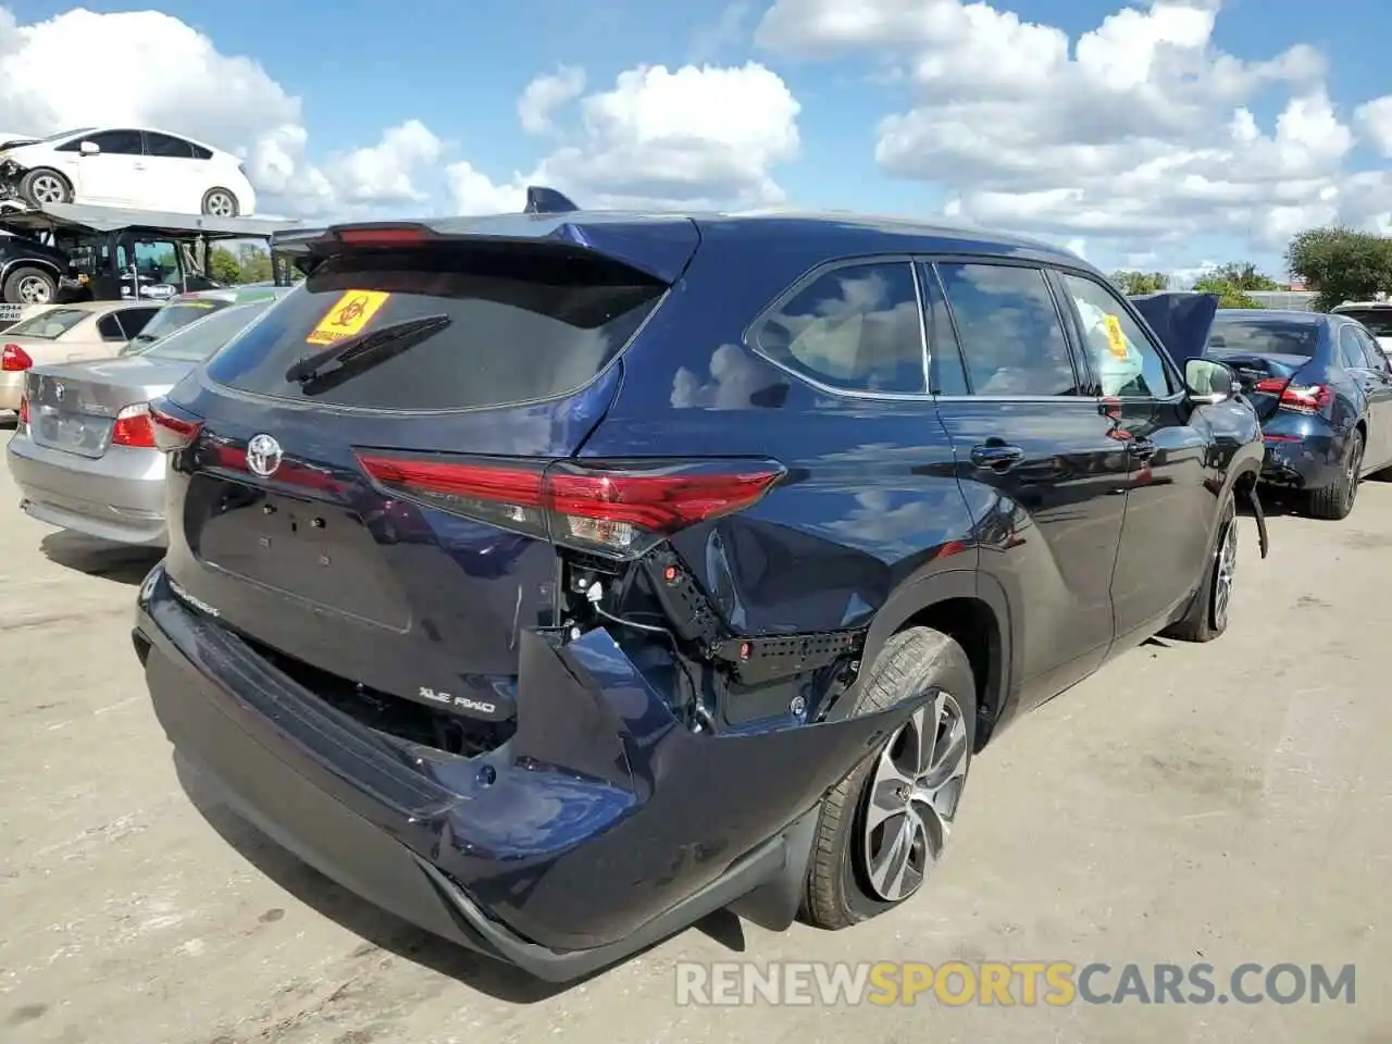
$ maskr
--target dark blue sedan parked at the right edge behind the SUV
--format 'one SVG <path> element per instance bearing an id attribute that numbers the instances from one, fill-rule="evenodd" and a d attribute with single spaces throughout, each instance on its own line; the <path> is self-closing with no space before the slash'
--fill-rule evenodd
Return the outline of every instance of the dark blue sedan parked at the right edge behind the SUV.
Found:
<path id="1" fill-rule="evenodd" d="M 1359 482 L 1392 466 L 1392 365 L 1352 316 L 1221 309 L 1208 356 L 1237 372 L 1261 418 L 1263 482 L 1315 518 L 1347 516 Z"/>

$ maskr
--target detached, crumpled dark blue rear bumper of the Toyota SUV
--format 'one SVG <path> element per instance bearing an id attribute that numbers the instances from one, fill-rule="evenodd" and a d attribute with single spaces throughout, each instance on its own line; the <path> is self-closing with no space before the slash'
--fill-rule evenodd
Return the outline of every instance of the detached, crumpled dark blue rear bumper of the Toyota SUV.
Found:
<path id="1" fill-rule="evenodd" d="M 331 709 L 163 565 L 134 638 L 166 734 L 232 809 L 367 901 L 553 981 L 722 906 L 786 927 L 817 802 L 917 706 L 692 734 L 606 631 L 526 633 L 516 732 L 465 759 Z"/>

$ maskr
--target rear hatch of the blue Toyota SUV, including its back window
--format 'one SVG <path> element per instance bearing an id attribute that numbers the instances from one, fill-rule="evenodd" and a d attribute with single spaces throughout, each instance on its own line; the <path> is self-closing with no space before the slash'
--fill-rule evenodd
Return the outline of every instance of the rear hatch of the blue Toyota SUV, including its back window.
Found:
<path id="1" fill-rule="evenodd" d="M 685 263 L 593 244 L 306 248 L 305 283 L 157 404 L 188 441 L 168 569 L 192 604 L 322 695 L 511 717 L 521 629 L 555 624 L 540 473 L 604 416 Z"/>

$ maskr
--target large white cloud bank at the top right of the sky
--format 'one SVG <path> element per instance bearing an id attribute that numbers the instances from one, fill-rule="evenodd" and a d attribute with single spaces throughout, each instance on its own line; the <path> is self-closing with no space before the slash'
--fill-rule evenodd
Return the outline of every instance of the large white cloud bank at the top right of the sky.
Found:
<path id="1" fill-rule="evenodd" d="M 1123 8 L 1072 40 L 986 3 L 775 0 L 757 29 L 771 53 L 862 54 L 913 103 L 878 125 L 885 173 L 941 182 L 948 212 L 1112 251 L 1176 251 L 1196 235 L 1279 249 L 1310 224 L 1386 220 L 1346 163 L 1353 129 L 1324 86 L 1322 56 L 1263 60 L 1217 49 L 1218 0 Z M 889 68 L 885 70 L 884 64 Z M 1251 106 L 1283 93 L 1274 127 Z M 1392 97 L 1357 114 L 1392 155 Z M 1171 251 L 1166 251 L 1166 253 Z"/>

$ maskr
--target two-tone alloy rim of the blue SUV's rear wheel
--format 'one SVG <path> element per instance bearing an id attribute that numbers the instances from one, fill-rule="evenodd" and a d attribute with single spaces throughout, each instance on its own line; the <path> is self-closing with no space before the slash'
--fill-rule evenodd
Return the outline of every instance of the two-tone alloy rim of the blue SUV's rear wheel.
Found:
<path id="1" fill-rule="evenodd" d="M 967 756 L 962 706 L 941 689 L 885 743 L 862 827 L 866 877 L 878 899 L 909 898 L 942 857 Z"/>

